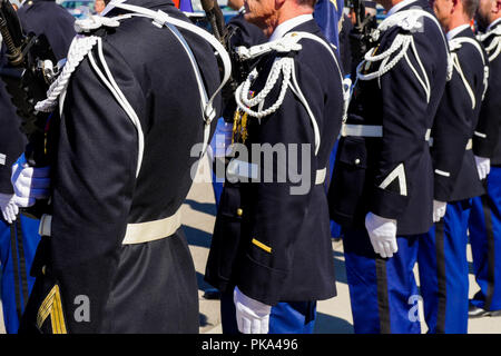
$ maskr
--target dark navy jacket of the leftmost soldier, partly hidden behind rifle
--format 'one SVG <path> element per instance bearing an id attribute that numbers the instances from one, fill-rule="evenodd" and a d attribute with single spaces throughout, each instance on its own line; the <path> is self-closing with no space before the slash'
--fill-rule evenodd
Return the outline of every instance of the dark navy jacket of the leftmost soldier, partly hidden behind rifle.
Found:
<path id="1" fill-rule="evenodd" d="M 66 9 L 53 0 L 30 0 L 18 10 L 18 17 L 26 33 L 46 34 L 56 58 L 66 58 L 75 37 L 75 19 Z M 19 130 L 20 119 L 16 116 L 16 108 L 10 102 L 3 82 L 0 82 L 0 155 L 6 155 L 6 164 L 0 165 L 0 192 L 9 194 L 13 192 L 10 184 L 11 166 L 23 151 L 26 138 Z"/>

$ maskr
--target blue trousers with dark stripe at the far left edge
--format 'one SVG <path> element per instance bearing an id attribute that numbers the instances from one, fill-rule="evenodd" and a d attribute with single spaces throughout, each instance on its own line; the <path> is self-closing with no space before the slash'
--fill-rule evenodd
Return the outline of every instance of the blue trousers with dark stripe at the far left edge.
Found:
<path id="1" fill-rule="evenodd" d="M 6 330 L 9 334 L 18 332 L 20 317 L 35 284 L 30 269 L 40 241 L 39 222 L 23 215 L 19 215 L 12 225 L 0 219 L 1 296 Z"/>

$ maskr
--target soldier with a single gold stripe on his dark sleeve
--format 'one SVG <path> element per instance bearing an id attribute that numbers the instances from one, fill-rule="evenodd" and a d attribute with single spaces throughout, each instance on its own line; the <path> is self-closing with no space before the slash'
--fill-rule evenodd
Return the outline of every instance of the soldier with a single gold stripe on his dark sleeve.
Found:
<path id="1" fill-rule="evenodd" d="M 226 333 L 312 333 L 316 300 L 335 295 L 324 180 L 341 127 L 342 75 L 313 6 L 245 4 L 245 19 L 269 41 L 240 52 L 258 63 L 235 93 L 239 156 L 228 165 L 206 268 L 223 291 Z M 284 150 L 267 156 L 265 147 Z M 259 165 L 265 156 L 268 166 Z M 298 167 L 299 182 L 287 175 Z"/>

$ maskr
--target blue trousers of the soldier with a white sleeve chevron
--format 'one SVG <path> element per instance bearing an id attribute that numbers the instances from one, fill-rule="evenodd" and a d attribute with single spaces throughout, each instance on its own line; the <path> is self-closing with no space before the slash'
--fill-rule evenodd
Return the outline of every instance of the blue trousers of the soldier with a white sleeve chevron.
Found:
<path id="1" fill-rule="evenodd" d="M 374 254 L 367 231 L 343 230 L 346 278 L 356 334 L 420 334 L 413 267 L 418 236 L 397 236 L 392 258 Z"/>

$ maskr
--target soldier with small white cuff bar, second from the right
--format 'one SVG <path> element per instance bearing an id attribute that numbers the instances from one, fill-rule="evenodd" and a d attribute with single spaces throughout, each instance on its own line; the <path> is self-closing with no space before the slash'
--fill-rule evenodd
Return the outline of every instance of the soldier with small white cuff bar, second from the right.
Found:
<path id="1" fill-rule="evenodd" d="M 435 0 L 453 75 L 432 128 L 435 226 L 420 238 L 418 264 L 429 333 L 468 333 L 466 259 L 471 198 L 483 194 L 472 151 L 488 89 L 489 59 L 470 27 L 478 0 Z M 442 218 L 443 217 L 443 218 Z"/>

